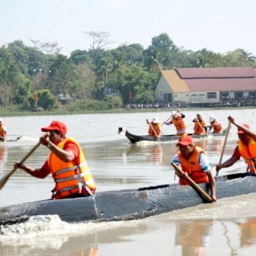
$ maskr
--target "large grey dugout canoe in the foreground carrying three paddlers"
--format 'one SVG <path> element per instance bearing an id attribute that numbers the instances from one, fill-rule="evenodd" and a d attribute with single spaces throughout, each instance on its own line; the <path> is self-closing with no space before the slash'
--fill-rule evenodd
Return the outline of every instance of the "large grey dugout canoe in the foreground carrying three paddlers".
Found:
<path id="1" fill-rule="evenodd" d="M 209 193 L 208 185 L 199 185 Z M 246 173 L 216 177 L 217 199 L 252 192 L 256 192 L 256 177 L 246 176 Z M 0 207 L 0 224 L 13 224 L 25 221 L 29 216 L 48 214 L 57 214 L 67 222 L 139 219 L 204 202 L 204 198 L 189 185 L 165 184 Z"/>

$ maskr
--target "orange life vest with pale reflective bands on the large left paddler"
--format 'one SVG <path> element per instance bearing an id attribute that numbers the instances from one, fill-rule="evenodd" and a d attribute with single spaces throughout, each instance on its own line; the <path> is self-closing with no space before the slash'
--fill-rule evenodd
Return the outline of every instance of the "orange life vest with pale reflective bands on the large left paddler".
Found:
<path id="1" fill-rule="evenodd" d="M 65 162 L 52 151 L 50 151 L 48 157 L 48 165 L 56 182 L 55 199 L 78 195 L 93 195 L 95 191 L 95 183 L 79 143 L 75 139 L 67 137 L 60 141 L 57 146 L 62 149 L 64 144 L 69 141 L 78 147 L 78 162 L 74 160 Z"/>

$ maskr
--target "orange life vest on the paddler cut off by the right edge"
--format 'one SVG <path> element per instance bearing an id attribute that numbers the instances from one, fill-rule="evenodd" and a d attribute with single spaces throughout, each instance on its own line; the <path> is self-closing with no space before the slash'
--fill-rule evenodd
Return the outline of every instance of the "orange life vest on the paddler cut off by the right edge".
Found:
<path id="1" fill-rule="evenodd" d="M 256 173 L 256 141 L 249 138 L 248 146 L 244 145 L 241 140 L 238 140 L 237 143 L 239 152 L 248 165 L 249 171 Z"/>

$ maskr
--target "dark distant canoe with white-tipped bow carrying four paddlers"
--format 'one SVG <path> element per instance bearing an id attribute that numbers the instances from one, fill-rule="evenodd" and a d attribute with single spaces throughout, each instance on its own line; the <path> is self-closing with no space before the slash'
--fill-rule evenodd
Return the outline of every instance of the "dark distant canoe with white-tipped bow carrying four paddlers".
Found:
<path id="1" fill-rule="evenodd" d="M 133 144 L 139 141 L 155 141 L 159 142 L 159 140 L 156 137 L 152 137 L 149 135 L 135 135 L 127 131 L 126 128 L 119 127 L 118 128 L 118 134 L 124 134 L 128 140 Z M 208 136 L 225 136 L 226 130 L 223 130 L 221 133 L 210 133 Z M 205 134 L 195 135 L 192 133 L 188 133 L 188 135 L 192 136 L 193 138 L 205 138 L 207 137 Z M 162 135 L 159 137 L 160 142 L 164 141 L 177 141 L 179 139 L 179 136 L 176 134 L 170 134 L 170 135 Z"/>

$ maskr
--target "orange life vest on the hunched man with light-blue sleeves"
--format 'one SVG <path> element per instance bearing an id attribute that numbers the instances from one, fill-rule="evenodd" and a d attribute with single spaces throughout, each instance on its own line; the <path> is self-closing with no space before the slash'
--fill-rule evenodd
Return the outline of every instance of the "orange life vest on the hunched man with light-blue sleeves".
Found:
<path id="1" fill-rule="evenodd" d="M 204 153 L 204 150 L 199 146 L 193 146 L 193 152 L 189 159 L 185 159 L 185 157 L 178 152 L 178 159 L 181 163 L 182 170 L 188 173 L 188 176 L 195 182 L 195 183 L 208 183 L 208 176 L 205 172 L 202 171 L 201 167 L 199 166 L 199 154 Z M 188 185 L 190 184 L 185 178 L 179 178 L 180 185 Z"/>

